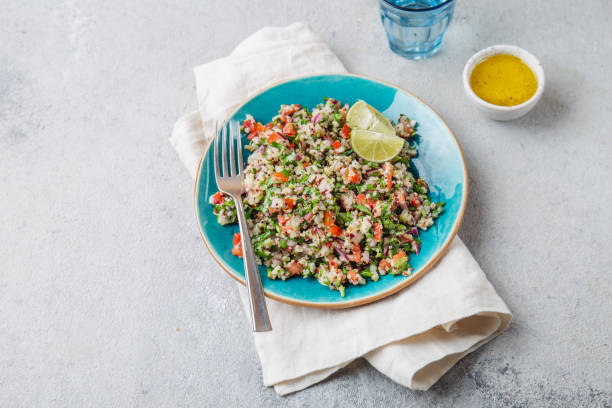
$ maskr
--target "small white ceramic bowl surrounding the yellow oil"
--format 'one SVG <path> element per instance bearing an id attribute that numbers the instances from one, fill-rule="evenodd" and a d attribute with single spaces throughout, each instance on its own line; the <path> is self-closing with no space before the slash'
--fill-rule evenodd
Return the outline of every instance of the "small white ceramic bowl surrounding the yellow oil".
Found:
<path id="1" fill-rule="evenodd" d="M 474 67 L 482 60 L 496 54 L 510 54 L 520 58 L 521 61 L 531 68 L 531 71 L 533 71 L 536 79 L 538 80 L 538 89 L 536 89 L 536 93 L 520 105 L 499 106 L 486 102 L 480 99 L 470 86 L 470 76 L 472 75 L 472 70 Z M 465 90 L 465 94 L 478 109 L 493 120 L 512 120 L 525 115 L 538 103 L 542 97 L 542 93 L 544 92 L 544 84 L 544 70 L 542 69 L 542 65 L 540 65 L 540 61 L 538 61 L 538 59 L 531 53 L 514 45 L 493 45 L 480 50 L 468 60 L 468 62 L 465 64 L 465 68 L 463 68 L 463 88 Z"/>

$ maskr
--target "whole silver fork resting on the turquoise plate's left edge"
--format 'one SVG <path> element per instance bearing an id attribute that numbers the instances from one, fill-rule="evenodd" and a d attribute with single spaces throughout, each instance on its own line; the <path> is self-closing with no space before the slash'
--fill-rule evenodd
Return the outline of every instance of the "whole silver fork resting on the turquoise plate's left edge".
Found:
<path id="1" fill-rule="evenodd" d="M 223 173 L 219 170 L 219 139 L 222 140 L 221 164 Z M 236 214 L 238 215 L 238 224 L 240 225 L 240 239 L 242 241 L 242 256 L 244 259 L 244 276 L 249 292 L 249 306 L 251 309 L 251 325 L 253 331 L 270 331 L 272 325 L 268 317 L 268 309 L 264 300 L 263 288 L 261 286 L 261 278 L 257 269 L 257 263 L 253 256 L 253 247 L 251 245 L 251 237 L 244 215 L 244 207 L 242 205 L 242 193 L 244 186 L 244 170 L 242 168 L 242 140 L 240 137 L 240 128 L 238 122 L 230 121 L 229 132 L 229 155 L 227 153 L 227 131 L 225 123 L 221 129 L 219 136 L 217 125 L 215 124 L 215 178 L 219 190 L 229 194 L 236 204 Z M 236 169 L 236 155 L 234 154 L 234 140 L 236 141 L 236 150 L 238 151 L 238 168 Z M 229 156 L 229 172 L 227 167 L 227 158 Z M 237 171 L 236 171 L 237 170 Z"/>

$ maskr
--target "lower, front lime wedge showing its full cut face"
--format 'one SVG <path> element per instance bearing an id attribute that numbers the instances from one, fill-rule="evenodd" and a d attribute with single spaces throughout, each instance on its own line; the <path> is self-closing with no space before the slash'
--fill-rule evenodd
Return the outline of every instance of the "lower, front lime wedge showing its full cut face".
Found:
<path id="1" fill-rule="evenodd" d="M 394 132 L 395 133 L 395 132 Z M 391 160 L 404 147 L 404 139 L 381 132 L 353 129 L 351 132 L 353 151 L 362 158 L 381 163 Z"/>

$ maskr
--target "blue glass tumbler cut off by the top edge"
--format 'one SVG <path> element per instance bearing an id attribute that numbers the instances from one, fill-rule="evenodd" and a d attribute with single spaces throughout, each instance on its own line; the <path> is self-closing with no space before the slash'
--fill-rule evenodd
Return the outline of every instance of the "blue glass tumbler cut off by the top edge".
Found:
<path id="1" fill-rule="evenodd" d="M 455 0 L 379 0 L 389 47 L 409 59 L 435 54 L 453 17 Z"/>

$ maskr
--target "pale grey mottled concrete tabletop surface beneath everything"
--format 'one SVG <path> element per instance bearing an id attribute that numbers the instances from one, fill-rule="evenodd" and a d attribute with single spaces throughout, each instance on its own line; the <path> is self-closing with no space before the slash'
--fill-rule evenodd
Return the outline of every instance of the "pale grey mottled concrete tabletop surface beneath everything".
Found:
<path id="1" fill-rule="evenodd" d="M 461 0 L 440 54 L 411 62 L 374 0 L 4 0 L 0 406 L 609 407 L 610 17 L 605 0 Z M 350 71 L 433 105 L 464 148 L 460 234 L 515 320 L 428 392 L 364 361 L 288 397 L 263 387 L 234 282 L 196 229 L 167 143 L 195 107 L 191 68 L 298 20 Z M 460 82 L 495 43 L 548 80 L 510 123 L 479 116 Z"/>

